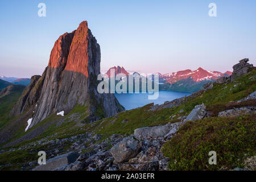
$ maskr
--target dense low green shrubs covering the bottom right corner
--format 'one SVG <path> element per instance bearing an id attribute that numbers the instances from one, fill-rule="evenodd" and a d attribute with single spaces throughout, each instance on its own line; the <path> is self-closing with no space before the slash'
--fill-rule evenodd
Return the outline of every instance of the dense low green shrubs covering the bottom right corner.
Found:
<path id="1" fill-rule="evenodd" d="M 185 123 L 162 151 L 171 170 L 217 170 L 243 167 L 256 153 L 256 115 L 205 118 Z M 217 165 L 208 163 L 209 151 L 217 152 Z"/>

